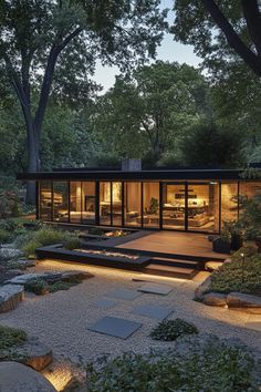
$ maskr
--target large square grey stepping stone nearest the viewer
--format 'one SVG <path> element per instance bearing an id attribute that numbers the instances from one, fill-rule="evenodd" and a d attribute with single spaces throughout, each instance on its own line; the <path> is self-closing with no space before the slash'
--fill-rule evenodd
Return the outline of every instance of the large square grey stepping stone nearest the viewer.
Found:
<path id="1" fill-rule="evenodd" d="M 115 338 L 127 339 L 143 324 L 115 317 L 106 316 L 88 327 L 90 331 L 109 334 Z"/>

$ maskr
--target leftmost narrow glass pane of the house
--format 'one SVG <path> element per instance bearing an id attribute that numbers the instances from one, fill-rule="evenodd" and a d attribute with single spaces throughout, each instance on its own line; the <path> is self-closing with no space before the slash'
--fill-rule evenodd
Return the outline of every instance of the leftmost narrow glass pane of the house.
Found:
<path id="1" fill-rule="evenodd" d="M 39 216 L 43 220 L 52 220 L 52 182 L 39 182 Z"/>

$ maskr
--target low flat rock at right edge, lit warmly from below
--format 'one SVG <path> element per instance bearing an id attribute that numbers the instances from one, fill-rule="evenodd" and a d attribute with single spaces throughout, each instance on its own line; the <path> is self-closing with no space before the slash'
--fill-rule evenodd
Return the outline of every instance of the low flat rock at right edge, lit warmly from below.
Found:
<path id="1" fill-rule="evenodd" d="M 229 308 L 243 309 L 250 313 L 261 314 L 261 297 L 230 292 L 227 296 L 227 305 Z"/>

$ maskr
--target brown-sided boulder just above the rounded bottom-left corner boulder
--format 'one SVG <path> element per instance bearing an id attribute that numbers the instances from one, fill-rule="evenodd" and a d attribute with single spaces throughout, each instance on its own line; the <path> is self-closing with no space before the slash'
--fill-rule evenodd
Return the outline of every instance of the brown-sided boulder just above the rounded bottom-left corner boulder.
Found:
<path id="1" fill-rule="evenodd" d="M 53 361 L 52 350 L 36 338 L 29 338 L 22 345 L 9 349 L 11 358 L 21 358 L 21 362 L 40 372 Z M 19 361 L 20 362 L 20 361 Z"/>

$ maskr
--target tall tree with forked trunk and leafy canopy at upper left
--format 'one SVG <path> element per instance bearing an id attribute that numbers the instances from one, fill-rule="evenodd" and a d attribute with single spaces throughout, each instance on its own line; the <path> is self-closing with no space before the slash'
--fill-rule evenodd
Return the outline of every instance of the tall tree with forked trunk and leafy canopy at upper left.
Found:
<path id="1" fill-rule="evenodd" d="M 41 131 L 55 70 L 60 81 L 81 82 L 92 75 L 97 58 L 123 69 L 144 62 L 163 38 L 165 17 L 159 0 L 1 1 L 0 68 L 22 109 L 29 172 L 40 169 Z M 28 200 L 33 202 L 29 185 Z"/>

